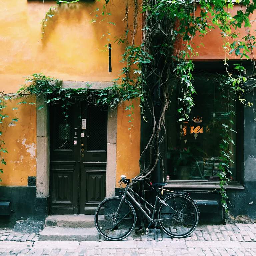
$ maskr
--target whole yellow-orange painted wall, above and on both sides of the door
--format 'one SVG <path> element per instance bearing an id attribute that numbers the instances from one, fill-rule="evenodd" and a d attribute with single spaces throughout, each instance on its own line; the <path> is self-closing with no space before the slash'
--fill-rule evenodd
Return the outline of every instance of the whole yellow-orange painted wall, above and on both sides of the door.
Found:
<path id="1" fill-rule="evenodd" d="M 128 17 L 133 22 L 132 0 L 129 0 Z M 120 63 L 125 45 L 114 41 L 126 31 L 124 24 L 124 1 L 114 0 L 107 5 L 112 15 L 107 20 L 98 17 L 95 23 L 90 20 L 94 11 L 99 13 L 105 0 L 84 1 L 62 6 L 45 28 L 41 40 L 41 20 L 54 1 L 0 0 L 0 91 L 16 92 L 24 84 L 24 77 L 33 73 L 43 73 L 60 80 L 75 81 L 112 81 L 120 74 L 123 66 Z M 104 16 L 106 17 L 106 15 Z M 109 39 L 102 37 L 109 31 Z M 140 43 L 140 33 L 137 42 Z M 108 72 L 108 51 L 105 44 L 112 47 L 112 73 Z M 9 104 L 4 112 L 12 117 Z M 129 142 L 128 121 L 122 107 L 118 108 L 118 175 L 121 169 L 139 172 L 140 115 L 139 107 L 135 108 L 132 144 Z M 36 111 L 34 106 L 22 105 L 18 111 L 19 122 L 15 127 L 8 127 L 4 133 L 7 166 L 3 166 L 3 182 L 0 185 L 27 185 L 27 177 L 36 175 Z M 10 122 L 6 119 L 7 124 Z M 129 142 L 129 143 L 128 143 Z M 132 164 L 126 157 L 133 158 Z M 124 160 L 125 159 L 125 160 Z M 121 162 L 121 163 L 120 163 Z M 120 176 L 120 175 L 119 175 Z"/>

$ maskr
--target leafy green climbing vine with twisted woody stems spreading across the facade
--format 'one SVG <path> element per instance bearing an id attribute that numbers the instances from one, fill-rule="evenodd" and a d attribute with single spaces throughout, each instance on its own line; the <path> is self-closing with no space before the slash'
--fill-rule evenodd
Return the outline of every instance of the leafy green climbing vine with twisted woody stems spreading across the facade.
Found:
<path id="1" fill-rule="evenodd" d="M 63 5 L 70 6 L 79 4 L 75 1 L 55 1 L 56 6 L 51 7 L 42 21 L 42 40 L 46 32 L 47 24 L 54 15 L 58 14 L 58 8 Z M 235 15 L 231 10 L 235 4 L 240 4 Z M 106 0 L 102 5 L 102 10 L 96 9 L 91 22 L 97 22 L 98 17 L 106 17 L 107 24 L 115 26 L 110 21 L 110 12 L 107 6 L 112 2 Z M 132 8 L 130 8 L 132 6 Z M 139 15 L 143 15 L 142 31 L 138 24 Z M 196 93 L 193 87 L 193 57 L 197 56 L 197 48 L 201 45 L 194 43 L 195 36 L 204 36 L 211 30 L 218 28 L 220 36 L 223 38 L 223 50 L 226 58 L 224 66 L 227 74 L 222 79 L 218 79 L 228 92 L 227 97 L 236 95 L 238 101 L 245 107 L 251 107 L 251 102 L 245 102 L 243 94 L 247 89 L 254 89 L 254 77 L 246 77 L 242 59 L 250 58 L 252 66 L 255 67 L 253 48 L 255 47 L 255 36 L 251 33 L 250 15 L 256 9 L 256 0 L 144 0 L 141 3 L 138 0 L 125 1 L 125 15 L 123 22 L 125 24 L 124 35 L 117 40 L 118 44 L 124 44 L 125 51 L 122 55 L 124 67 L 122 74 L 114 81 L 114 86 L 97 92 L 92 92 L 86 88 L 81 89 L 63 89 L 58 85 L 58 80 L 46 77 L 42 74 L 33 74 L 27 79 L 29 84 L 22 87 L 17 94 L 5 95 L 1 93 L 0 102 L 0 159 L 3 165 L 6 165 L 3 154 L 7 153 L 4 146 L 3 134 L 6 129 L 4 114 L 6 101 L 10 98 L 24 98 L 31 94 L 37 96 L 43 95 L 47 104 L 63 103 L 63 109 L 66 109 L 72 98 L 77 100 L 87 100 L 93 104 L 108 104 L 111 108 L 126 100 L 139 98 L 142 115 L 144 117 L 144 106 L 147 104 L 150 108 L 153 118 L 153 128 L 150 139 L 142 151 L 140 157 L 140 174 L 137 178 L 142 179 L 150 177 L 156 169 L 157 164 L 163 156 L 160 147 L 165 136 L 165 111 L 168 108 L 172 92 L 179 88 L 181 92 L 179 101 L 180 119 L 185 121 L 189 117 L 191 108 L 194 106 L 193 94 Z M 128 15 L 133 12 L 133 15 Z M 132 17 L 132 21 L 129 20 Z M 130 24 L 132 23 L 132 26 Z M 246 30 L 246 36 L 239 34 L 240 29 Z M 143 34 L 142 42 L 136 45 L 135 37 L 137 33 Z M 50 31 L 47 31 L 50 33 Z M 107 29 L 103 35 L 109 42 L 110 33 Z M 107 44 L 105 45 L 107 47 Z M 201 46 L 202 47 L 202 46 Z M 235 64 L 234 70 L 228 67 L 229 56 L 235 54 L 240 61 Z M 233 72 L 234 74 L 231 74 Z M 221 82 L 220 82 L 221 80 Z M 250 80 L 251 85 L 245 84 Z M 232 92 L 232 93 L 230 93 Z M 153 101 L 156 97 L 161 105 L 157 110 Z M 19 102 L 20 103 L 20 102 Z M 20 104 L 27 104 L 22 100 Z M 15 109 L 17 110 L 17 109 Z M 131 111 L 128 116 L 132 123 L 132 103 L 127 107 Z M 230 115 L 233 115 L 230 109 L 227 109 Z M 146 119 L 146 117 L 144 117 Z M 13 122 L 17 122 L 14 118 Z M 132 126 L 131 126 L 132 128 Z M 228 213 L 228 196 L 224 186 L 229 181 L 227 173 L 230 172 L 229 165 L 232 152 L 229 144 L 233 143 L 230 132 L 234 132 L 232 124 L 222 124 L 222 142 L 220 144 L 220 193 L 222 195 L 222 204 Z M 145 155 L 148 154 L 150 160 L 145 163 Z M 0 172 L 3 169 L 0 168 Z"/>

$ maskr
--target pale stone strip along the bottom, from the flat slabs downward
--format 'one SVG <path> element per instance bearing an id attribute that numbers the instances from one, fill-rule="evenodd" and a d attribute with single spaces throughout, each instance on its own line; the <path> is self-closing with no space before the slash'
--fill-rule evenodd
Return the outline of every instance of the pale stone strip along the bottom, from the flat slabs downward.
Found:
<path id="1" fill-rule="evenodd" d="M 1 256 L 256 255 L 256 242 L 222 241 L 1 241 Z"/>

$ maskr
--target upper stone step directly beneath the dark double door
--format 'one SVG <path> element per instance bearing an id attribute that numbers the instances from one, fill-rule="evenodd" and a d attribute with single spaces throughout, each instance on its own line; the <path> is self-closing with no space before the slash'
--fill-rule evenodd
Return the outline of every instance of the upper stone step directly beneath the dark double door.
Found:
<path id="1" fill-rule="evenodd" d="M 45 227 L 94 228 L 94 215 L 49 215 Z"/>

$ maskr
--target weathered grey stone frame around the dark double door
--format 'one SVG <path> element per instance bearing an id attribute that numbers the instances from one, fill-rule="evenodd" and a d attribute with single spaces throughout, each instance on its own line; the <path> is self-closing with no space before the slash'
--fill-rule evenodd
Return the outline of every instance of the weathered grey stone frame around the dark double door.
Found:
<path id="1" fill-rule="evenodd" d="M 112 82 L 61 81 L 63 88 L 103 89 L 113 85 Z M 36 163 L 36 197 L 50 195 L 50 118 L 49 108 L 42 98 L 36 100 L 37 116 L 37 163 Z M 38 110 L 38 106 L 43 106 Z M 107 170 L 106 197 L 115 195 L 116 186 L 116 139 L 117 108 L 108 108 L 107 124 Z"/>

